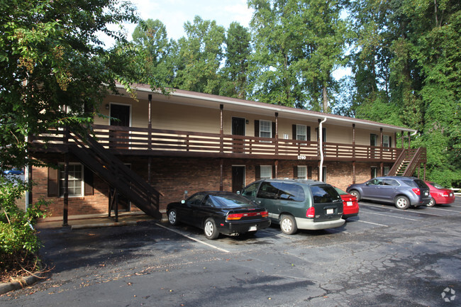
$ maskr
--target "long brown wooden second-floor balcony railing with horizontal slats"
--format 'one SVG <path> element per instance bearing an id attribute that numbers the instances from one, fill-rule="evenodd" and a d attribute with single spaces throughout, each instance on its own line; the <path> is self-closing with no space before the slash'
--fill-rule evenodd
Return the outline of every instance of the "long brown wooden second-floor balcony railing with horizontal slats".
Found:
<path id="1" fill-rule="evenodd" d="M 257 138 L 197 133 L 191 131 L 162 130 L 135 127 L 94 125 L 96 140 L 121 155 L 172 155 L 199 157 L 245 157 L 281 160 L 319 160 L 318 142 Z M 35 150 L 43 148 L 60 151 L 62 130 L 50 130 L 33 139 Z M 42 144 L 42 145 L 41 145 Z M 394 162 L 401 148 L 323 143 L 324 160 Z"/>

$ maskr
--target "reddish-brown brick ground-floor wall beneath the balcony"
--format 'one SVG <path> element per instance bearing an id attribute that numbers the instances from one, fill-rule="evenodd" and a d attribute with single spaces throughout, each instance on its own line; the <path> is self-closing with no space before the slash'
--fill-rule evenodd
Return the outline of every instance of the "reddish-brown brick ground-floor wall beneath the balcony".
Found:
<path id="1" fill-rule="evenodd" d="M 58 157 L 54 157 L 58 158 Z M 73 160 L 75 161 L 75 160 Z M 131 165 L 131 169 L 145 180 L 148 179 L 147 157 L 123 157 L 123 162 Z M 245 184 L 250 184 L 256 179 L 257 165 L 274 164 L 274 160 L 223 160 L 223 190 L 232 190 L 232 166 L 245 166 Z M 279 161 L 277 167 L 278 178 L 293 178 L 294 167 L 306 165 L 311 167 L 312 176 L 318 178 L 318 162 L 309 161 Z M 352 184 L 351 162 L 326 162 L 326 182 L 346 189 Z M 356 163 L 356 182 L 365 182 L 370 179 L 370 163 Z M 160 196 L 160 210 L 165 210 L 168 203 L 184 199 L 184 192 L 191 196 L 196 191 L 219 190 L 221 178 L 221 159 L 210 158 L 177 158 L 177 157 L 152 157 L 151 184 L 164 196 Z M 33 201 L 45 199 L 52 201 L 49 210 L 52 216 L 62 216 L 63 199 L 48 197 L 48 169 L 35 167 L 33 169 Z M 80 214 L 107 213 L 109 210 L 109 186 L 102 179 L 94 176 L 94 195 L 84 197 L 71 197 L 69 199 L 69 216 Z M 138 211 L 134 205 L 130 211 Z"/>

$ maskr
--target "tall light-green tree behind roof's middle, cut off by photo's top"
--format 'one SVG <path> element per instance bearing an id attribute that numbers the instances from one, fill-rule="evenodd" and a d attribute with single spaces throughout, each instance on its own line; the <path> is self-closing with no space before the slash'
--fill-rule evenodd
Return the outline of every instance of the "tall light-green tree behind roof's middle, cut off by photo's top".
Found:
<path id="1" fill-rule="evenodd" d="M 340 1 L 250 0 L 255 52 L 252 96 L 261 101 L 327 112 L 345 64 L 348 25 Z"/>

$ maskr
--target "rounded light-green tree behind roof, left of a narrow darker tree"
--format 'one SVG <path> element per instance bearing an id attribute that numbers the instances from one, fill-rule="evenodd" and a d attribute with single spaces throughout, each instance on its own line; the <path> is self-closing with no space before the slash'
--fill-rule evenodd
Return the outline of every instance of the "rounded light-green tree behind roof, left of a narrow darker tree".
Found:
<path id="1" fill-rule="evenodd" d="M 187 37 L 178 40 L 177 72 L 173 86 L 188 91 L 219 94 L 219 67 L 223 60 L 225 30 L 216 21 L 195 16 L 184 23 Z"/>

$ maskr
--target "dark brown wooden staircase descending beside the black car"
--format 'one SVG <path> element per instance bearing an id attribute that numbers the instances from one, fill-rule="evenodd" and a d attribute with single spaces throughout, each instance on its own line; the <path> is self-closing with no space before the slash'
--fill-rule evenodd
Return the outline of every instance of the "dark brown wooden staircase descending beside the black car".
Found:
<path id="1" fill-rule="evenodd" d="M 159 191 L 123 164 L 91 135 L 81 135 L 77 131 L 72 131 L 67 133 L 67 138 L 71 140 L 67 143 L 69 152 L 111 186 L 111 207 L 116 207 L 116 203 L 112 202 L 117 201 L 116 195 L 120 193 L 148 216 L 162 218 L 159 211 Z"/>

